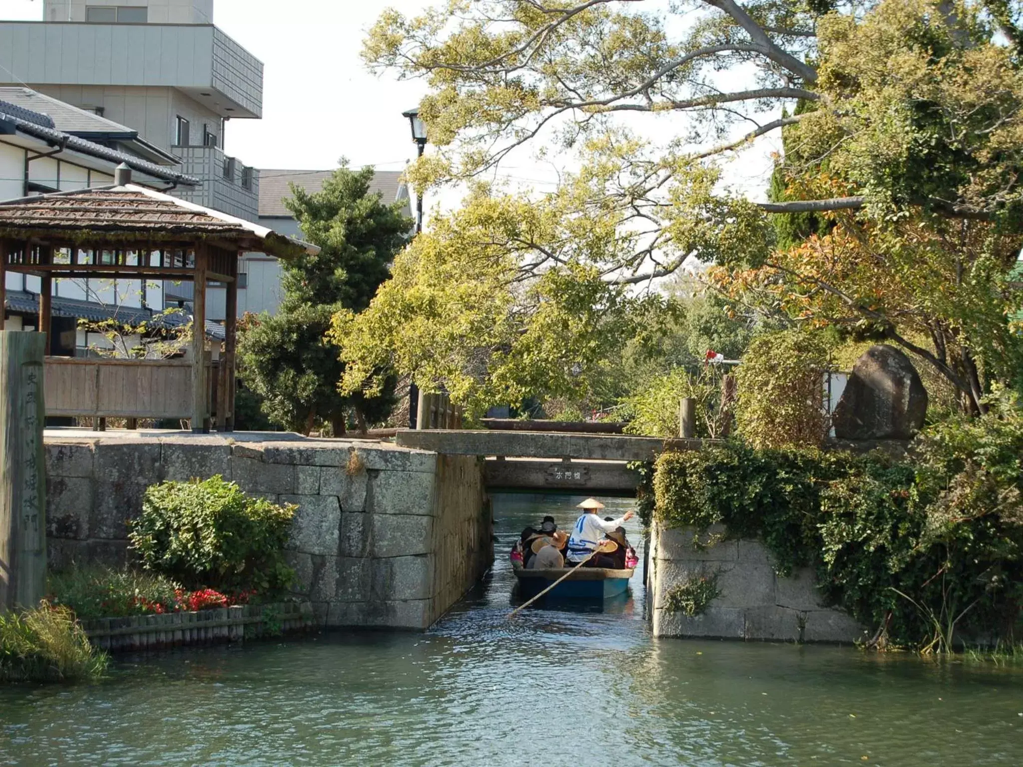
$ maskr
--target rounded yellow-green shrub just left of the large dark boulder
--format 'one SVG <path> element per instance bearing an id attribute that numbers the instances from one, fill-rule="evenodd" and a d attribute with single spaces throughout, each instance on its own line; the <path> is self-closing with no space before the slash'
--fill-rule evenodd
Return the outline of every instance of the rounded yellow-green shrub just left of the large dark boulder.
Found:
<path id="1" fill-rule="evenodd" d="M 736 375 L 740 433 L 756 447 L 820 445 L 828 367 L 819 333 L 779 330 L 754 337 Z"/>

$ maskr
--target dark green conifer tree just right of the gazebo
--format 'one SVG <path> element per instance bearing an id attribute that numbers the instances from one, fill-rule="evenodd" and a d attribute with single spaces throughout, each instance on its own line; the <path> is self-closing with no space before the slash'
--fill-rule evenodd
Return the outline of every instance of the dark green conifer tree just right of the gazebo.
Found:
<path id="1" fill-rule="evenodd" d="M 341 345 L 325 337 L 336 313 L 369 305 L 411 230 L 399 204 L 385 205 L 370 191 L 372 178 L 371 168 L 351 171 L 343 162 L 321 191 L 293 185 L 294 198 L 285 205 L 320 253 L 282 262 L 280 311 L 247 317 L 240 325 L 246 384 L 262 400 L 264 413 L 286 428 L 309 434 L 325 420 L 338 436 L 349 413 L 364 430 L 367 417 L 386 417 L 393 405 L 394 377 L 386 373 L 374 400 L 343 396 Z"/>

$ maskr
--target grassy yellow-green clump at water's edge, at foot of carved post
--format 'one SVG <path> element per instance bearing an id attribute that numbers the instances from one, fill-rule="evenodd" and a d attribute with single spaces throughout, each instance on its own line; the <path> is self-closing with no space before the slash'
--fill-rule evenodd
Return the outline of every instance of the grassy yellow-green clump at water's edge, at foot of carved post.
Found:
<path id="1" fill-rule="evenodd" d="M 0 682 L 97 679 L 106 665 L 66 607 L 0 613 Z"/>

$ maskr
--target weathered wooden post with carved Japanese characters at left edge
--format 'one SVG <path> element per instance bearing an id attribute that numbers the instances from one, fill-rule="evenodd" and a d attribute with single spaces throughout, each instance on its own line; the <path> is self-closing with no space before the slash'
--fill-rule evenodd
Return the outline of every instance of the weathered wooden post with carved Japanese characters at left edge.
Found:
<path id="1" fill-rule="evenodd" d="M 0 332 L 0 612 L 46 593 L 46 473 L 40 332 Z"/>

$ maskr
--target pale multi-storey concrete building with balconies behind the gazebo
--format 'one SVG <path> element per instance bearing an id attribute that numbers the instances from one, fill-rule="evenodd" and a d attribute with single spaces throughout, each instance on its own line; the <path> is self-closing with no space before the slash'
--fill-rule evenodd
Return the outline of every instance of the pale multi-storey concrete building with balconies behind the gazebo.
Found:
<path id="1" fill-rule="evenodd" d="M 176 196 L 255 220 L 259 173 L 224 150 L 263 112 L 263 63 L 212 24 L 213 0 L 44 0 L 0 21 L 0 85 L 27 85 L 129 126 L 202 182 Z"/>

